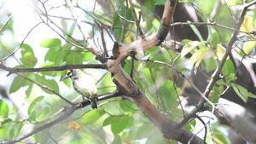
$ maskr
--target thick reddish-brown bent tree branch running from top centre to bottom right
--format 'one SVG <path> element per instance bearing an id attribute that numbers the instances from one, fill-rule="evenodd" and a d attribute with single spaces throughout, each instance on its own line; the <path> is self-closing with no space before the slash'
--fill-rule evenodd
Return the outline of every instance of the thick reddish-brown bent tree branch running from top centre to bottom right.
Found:
<path id="1" fill-rule="evenodd" d="M 176 1 L 167 1 L 165 5 L 165 14 L 160 23 L 158 32 L 128 44 L 115 44 L 113 49 L 113 58 L 108 60 L 108 71 L 113 73 L 115 80 L 126 90 L 127 95 L 131 96 L 134 103 L 144 112 L 144 114 L 154 123 L 154 125 L 166 136 L 166 138 L 181 141 L 183 143 L 204 143 L 197 135 L 184 128 L 176 129 L 175 122 L 166 118 L 166 116 L 157 109 L 152 101 L 138 88 L 137 84 L 119 65 L 120 61 L 126 56 L 146 49 L 151 49 L 159 45 L 166 39 L 172 21 L 172 14 L 176 7 Z"/>

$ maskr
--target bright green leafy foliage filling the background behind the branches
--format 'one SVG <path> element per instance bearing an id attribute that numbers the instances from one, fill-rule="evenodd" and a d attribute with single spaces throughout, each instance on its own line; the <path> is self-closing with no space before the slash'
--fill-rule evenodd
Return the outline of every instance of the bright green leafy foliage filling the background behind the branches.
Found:
<path id="1" fill-rule="evenodd" d="M 87 49 L 90 46 L 83 40 L 84 36 L 81 36 L 81 33 L 78 34 L 78 25 L 73 20 L 70 20 L 73 18 L 64 14 L 64 12 L 68 13 L 68 15 L 71 13 L 69 8 L 63 3 L 45 8 L 49 2 L 37 3 L 35 9 L 37 9 L 39 21 L 48 26 L 48 28 L 52 28 L 50 31 L 57 32 L 58 36 L 39 39 L 40 43 L 37 43 L 37 46 L 34 46 L 32 42 L 27 43 L 26 41 L 19 43 L 20 46 L 15 41 L 13 43 L 1 41 L 1 63 L 14 68 L 45 68 L 100 63 L 95 59 L 95 55 Z M 160 21 L 154 17 L 154 5 L 164 4 L 165 2 L 146 1 L 142 7 L 137 3 L 133 3 L 137 15 L 142 10 L 140 22 L 143 32 L 147 32 L 145 35 L 150 35 L 157 31 Z M 182 2 L 188 1 L 183 0 Z M 234 2 L 227 1 L 226 5 L 215 0 L 193 1 L 198 6 L 198 9 L 201 9 L 201 12 L 205 14 L 207 20 L 204 20 L 208 23 L 211 23 L 208 18 L 211 17 L 212 9 L 216 9 L 214 4 L 220 3 L 217 13 L 212 17 L 211 21 L 221 21 L 220 25 L 230 28 L 234 28 L 232 26 L 235 23 L 230 20 L 232 19 L 230 14 L 224 14 L 224 11 L 227 12 L 229 10 L 227 6 L 236 6 L 241 4 L 242 1 Z M 103 48 L 104 44 L 101 36 L 105 37 L 107 42 L 106 49 L 110 54 L 114 37 L 118 37 L 118 40 L 122 43 L 131 43 L 137 39 L 137 26 L 135 22 L 131 22 L 134 18 L 131 14 L 131 5 L 127 1 L 122 1 L 122 3 L 120 1 L 117 3 L 116 1 L 109 1 L 109 3 L 113 4 L 110 7 L 111 16 L 104 12 L 105 9 L 99 7 L 88 9 L 86 3 L 79 3 L 81 6 L 77 8 L 84 12 L 82 14 L 84 17 L 83 24 L 90 27 L 88 28 L 90 36 L 86 40 L 91 39 L 98 48 Z M 45 6 L 44 9 L 41 8 L 42 6 Z M 47 13 L 44 10 L 47 10 Z M 63 11 L 63 14 L 57 15 L 54 12 L 55 10 Z M 238 11 L 241 12 L 241 10 Z M 232 12 L 237 13 L 236 11 Z M 41 13 L 47 14 L 47 17 L 44 17 L 45 15 Z M 242 31 L 239 35 L 240 43 L 236 43 L 240 49 L 235 50 L 243 59 L 251 59 L 252 55 L 255 56 L 255 35 L 245 33 L 253 32 L 254 27 L 256 27 L 256 20 L 253 20 L 253 15 L 255 16 L 255 14 L 255 9 L 250 11 L 240 27 Z M 53 21 L 50 22 L 45 18 Z M 0 19 L 1 21 L 6 20 L 4 17 L 0 17 Z M 1 39 L 9 31 L 16 37 L 16 31 L 13 29 L 14 23 L 15 21 L 11 20 L 4 27 L 1 32 L 3 34 L 0 36 Z M 190 21 L 187 21 L 187 23 L 190 23 Z M 3 23 L 1 26 L 3 26 Z M 41 26 L 43 27 L 43 24 Z M 226 53 L 226 43 L 230 41 L 230 35 L 234 32 L 211 23 L 207 25 L 207 39 L 203 39 L 196 26 L 190 26 L 199 40 L 184 39 L 181 53 L 178 53 L 172 46 L 163 43 L 163 45 L 146 50 L 143 54 L 136 55 L 136 60 L 131 57 L 125 60 L 125 72 L 132 74 L 136 84 L 154 105 L 161 112 L 164 112 L 167 118 L 174 121 L 179 121 L 183 118 L 184 113 L 188 113 L 188 111 L 178 107 L 180 105 L 178 95 L 182 93 L 183 81 L 186 81 L 183 80 L 183 77 L 188 78 L 191 75 L 191 66 L 195 66 L 193 71 L 195 73 L 197 69 L 213 72 L 222 62 Z M 58 29 L 58 27 L 61 27 L 61 29 Z M 36 28 L 40 29 L 39 26 Z M 36 32 L 36 30 L 32 29 L 33 31 Z M 28 35 L 28 37 L 32 36 Z M 14 49 L 18 49 L 17 52 L 14 52 L 15 55 L 2 59 L 15 51 Z M 45 51 L 45 54 L 40 50 Z M 188 54 L 192 56 L 188 58 Z M 177 68 L 178 72 L 155 61 L 172 65 Z M 133 70 L 132 73 L 131 69 Z M 113 84 L 111 73 L 101 69 L 84 69 L 84 72 L 92 75 L 97 81 L 98 95 L 116 92 L 116 85 Z M 8 73 L 3 74 L 7 75 Z M 22 97 L 27 104 L 26 107 L 15 106 L 13 104 L 15 100 L 11 99 L 10 101 L 7 98 L 0 100 L 0 137 L 2 139 L 0 141 L 4 142 L 4 139 L 15 139 L 25 135 L 28 132 L 25 130 L 26 125 L 32 124 L 34 128 L 37 128 L 58 118 L 61 115 L 61 108 L 69 106 L 69 104 L 63 101 L 60 96 L 55 95 L 56 93 L 74 103 L 81 101 L 81 98 L 76 99 L 79 94 L 73 90 L 71 82 L 62 80 L 65 74 L 66 71 L 50 71 L 26 72 L 9 76 L 13 77 L 7 87 L 9 95 Z M 219 79 L 213 87 L 209 101 L 217 104 L 219 95 L 224 92 L 227 86 L 235 89 L 236 94 L 244 102 L 247 102 L 249 97 L 256 98 L 256 95 L 235 83 L 236 70 L 229 57 L 224 62 L 221 74 L 223 78 Z M 5 76 L 2 75 L 1 77 Z M 185 101 L 185 99 L 181 101 Z M 98 104 L 100 107 L 96 110 L 90 110 L 90 107 L 85 107 L 74 112 L 70 118 L 60 124 L 55 124 L 49 129 L 32 135 L 31 141 L 38 143 L 53 143 L 54 141 L 60 143 L 155 143 L 155 141 L 168 143 L 168 140 L 160 130 L 155 128 L 154 124 L 140 111 L 139 107 L 133 102 L 125 100 L 125 97 L 99 101 Z M 211 107 L 209 103 L 208 106 Z M 20 112 L 21 108 L 25 109 L 25 114 Z M 193 132 L 196 123 L 200 122 L 191 119 L 189 124 L 185 125 L 185 128 Z M 212 124 L 212 129 L 208 130 L 212 135 L 207 135 L 207 142 L 230 143 L 229 138 L 224 135 L 223 131 L 218 130 L 219 126 L 220 124 Z M 177 141 L 172 141 L 171 143 L 177 143 Z"/>

